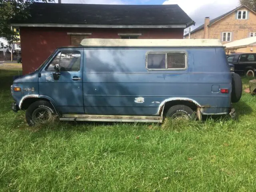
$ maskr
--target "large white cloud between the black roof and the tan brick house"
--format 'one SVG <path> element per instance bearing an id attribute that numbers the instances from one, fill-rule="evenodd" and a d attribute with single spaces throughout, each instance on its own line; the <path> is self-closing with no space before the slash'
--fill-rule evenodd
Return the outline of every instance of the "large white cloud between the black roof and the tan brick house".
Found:
<path id="1" fill-rule="evenodd" d="M 192 20 L 196 28 L 204 23 L 205 17 L 216 18 L 239 6 L 239 0 L 166 0 L 163 4 L 178 4 Z"/>

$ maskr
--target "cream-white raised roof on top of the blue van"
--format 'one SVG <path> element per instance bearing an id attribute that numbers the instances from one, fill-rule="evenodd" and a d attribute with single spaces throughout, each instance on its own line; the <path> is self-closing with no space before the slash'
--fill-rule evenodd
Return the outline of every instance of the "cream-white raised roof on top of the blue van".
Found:
<path id="1" fill-rule="evenodd" d="M 87 38 L 80 43 L 82 46 L 131 46 L 131 47 L 209 47 L 223 46 L 218 39 L 98 39 Z"/>

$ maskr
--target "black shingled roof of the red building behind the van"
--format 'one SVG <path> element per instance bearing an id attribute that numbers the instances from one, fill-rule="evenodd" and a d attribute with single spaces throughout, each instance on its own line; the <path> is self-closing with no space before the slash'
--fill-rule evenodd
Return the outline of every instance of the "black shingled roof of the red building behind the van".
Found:
<path id="1" fill-rule="evenodd" d="M 13 26 L 24 24 L 76 24 L 118 26 L 173 26 L 194 24 L 178 5 L 103 5 L 33 3 L 30 17 L 12 20 Z M 166 27 L 167 28 L 167 27 Z"/>

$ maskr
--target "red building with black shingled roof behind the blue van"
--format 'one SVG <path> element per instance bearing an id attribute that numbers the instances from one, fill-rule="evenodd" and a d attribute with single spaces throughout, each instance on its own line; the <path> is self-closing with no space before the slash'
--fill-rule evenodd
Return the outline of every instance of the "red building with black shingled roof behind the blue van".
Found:
<path id="1" fill-rule="evenodd" d="M 60 46 L 84 38 L 183 38 L 194 21 L 178 5 L 34 3 L 20 28 L 23 74 L 33 72 Z"/>

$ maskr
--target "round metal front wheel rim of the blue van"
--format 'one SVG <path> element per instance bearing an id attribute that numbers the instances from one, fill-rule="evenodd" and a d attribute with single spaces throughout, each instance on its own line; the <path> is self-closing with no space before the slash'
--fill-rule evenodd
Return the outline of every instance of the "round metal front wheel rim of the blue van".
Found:
<path id="1" fill-rule="evenodd" d="M 46 123 L 52 117 L 52 113 L 49 109 L 44 107 L 36 108 L 32 113 L 32 120 L 36 124 Z"/>

